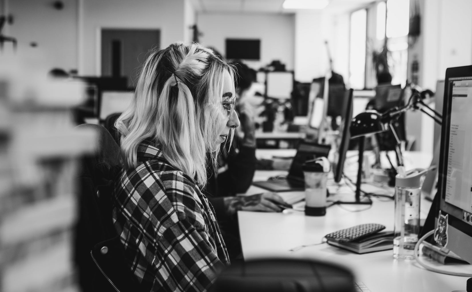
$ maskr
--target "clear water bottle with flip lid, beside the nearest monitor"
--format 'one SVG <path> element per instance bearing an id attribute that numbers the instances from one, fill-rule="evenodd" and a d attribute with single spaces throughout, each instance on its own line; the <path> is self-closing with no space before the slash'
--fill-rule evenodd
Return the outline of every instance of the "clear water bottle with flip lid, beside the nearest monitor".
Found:
<path id="1" fill-rule="evenodd" d="M 421 177 L 427 170 L 400 170 L 395 177 L 395 226 L 393 257 L 414 259 L 414 247 L 420 234 Z"/>

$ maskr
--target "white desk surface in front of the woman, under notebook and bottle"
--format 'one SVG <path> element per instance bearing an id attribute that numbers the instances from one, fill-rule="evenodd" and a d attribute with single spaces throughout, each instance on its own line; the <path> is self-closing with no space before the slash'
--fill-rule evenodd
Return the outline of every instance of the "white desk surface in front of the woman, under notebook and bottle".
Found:
<path id="1" fill-rule="evenodd" d="M 413 157 L 420 157 L 418 155 L 418 153 L 412 154 Z M 405 158 L 408 156 L 410 154 L 406 154 Z M 423 155 L 422 158 L 426 156 Z M 417 161 L 414 164 L 417 163 L 425 164 L 427 167 L 430 162 Z M 283 171 L 256 171 L 256 176 L 262 178 L 278 173 Z M 248 193 L 261 191 L 263 190 L 260 188 L 251 187 Z M 286 194 L 288 195 L 288 192 Z M 301 245 L 320 243 L 322 237 L 330 232 L 362 223 L 380 223 L 385 225 L 387 230 L 393 230 L 394 202 L 385 198 L 372 198 L 372 200 L 371 208 L 366 205 L 333 205 L 327 209 L 326 216 L 322 217 L 305 216 L 301 211 L 284 213 L 239 211 L 244 259 L 301 257 L 335 261 L 351 268 L 356 281 L 363 282 L 371 292 L 465 291 L 466 277 L 430 272 L 414 260 L 394 260 L 391 250 L 359 255 L 323 243 L 307 246 L 298 251 L 289 251 Z M 426 218 L 430 204 L 426 200 L 421 202 L 422 219 Z M 428 263 L 444 268 L 429 260 Z M 447 268 L 455 268 L 456 271 L 462 269 L 464 272 L 463 266 L 448 265 Z"/>

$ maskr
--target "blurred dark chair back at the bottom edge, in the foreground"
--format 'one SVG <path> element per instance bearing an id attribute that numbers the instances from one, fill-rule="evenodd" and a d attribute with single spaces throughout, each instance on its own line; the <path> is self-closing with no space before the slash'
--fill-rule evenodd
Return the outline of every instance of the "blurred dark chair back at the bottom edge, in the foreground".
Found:
<path id="1" fill-rule="evenodd" d="M 354 292 L 351 271 L 334 263 L 302 259 L 258 259 L 233 263 L 212 292 Z"/>

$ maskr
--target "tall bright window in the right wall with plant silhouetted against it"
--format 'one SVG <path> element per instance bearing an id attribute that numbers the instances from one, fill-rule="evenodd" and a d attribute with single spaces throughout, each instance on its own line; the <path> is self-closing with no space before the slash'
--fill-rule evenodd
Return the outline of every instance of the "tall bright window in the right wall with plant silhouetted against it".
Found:
<path id="1" fill-rule="evenodd" d="M 410 0 L 382 0 L 351 14 L 349 51 L 351 88 L 374 88 L 377 85 L 372 52 L 374 50 L 381 51 L 385 44 L 390 51 L 388 65 L 392 75 L 392 84 L 405 84 L 409 7 Z M 361 44 L 362 39 L 364 40 L 363 45 Z"/>

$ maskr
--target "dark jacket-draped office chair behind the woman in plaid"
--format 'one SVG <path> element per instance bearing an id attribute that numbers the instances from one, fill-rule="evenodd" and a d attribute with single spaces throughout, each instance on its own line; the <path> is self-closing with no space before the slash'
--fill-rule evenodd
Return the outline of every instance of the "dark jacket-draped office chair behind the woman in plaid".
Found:
<path id="1" fill-rule="evenodd" d="M 113 178 L 121 169 L 119 147 L 100 125 L 82 124 L 76 129 L 93 130 L 97 136 L 95 153 L 82 159 L 77 179 L 74 261 L 80 288 L 87 292 L 137 292 L 139 284 L 111 220 Z"/>

